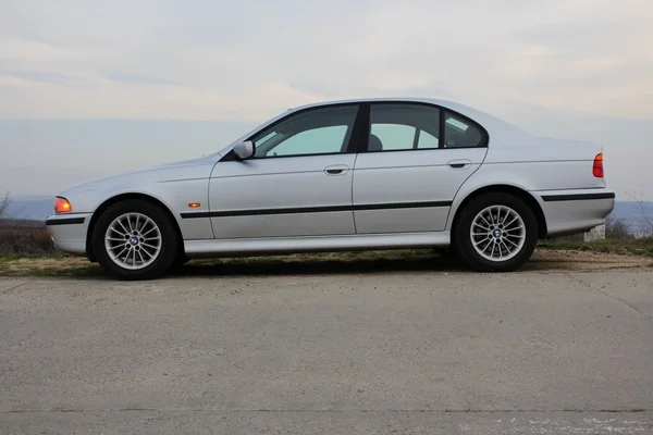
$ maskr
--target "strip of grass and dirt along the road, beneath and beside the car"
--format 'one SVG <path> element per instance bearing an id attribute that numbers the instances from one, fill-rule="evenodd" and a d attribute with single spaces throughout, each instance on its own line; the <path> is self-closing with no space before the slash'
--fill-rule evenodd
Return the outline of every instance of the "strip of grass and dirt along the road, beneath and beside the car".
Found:
<path id="1" fill-rule="evenodd" d="M 537 250 L 523 271 L 590 272 L 653 270 L 653 259 L 577 250 Z M 459 261 L 431 250 L 393 250 L 293 254 L 192 261 L 177 276 L 247 276 L 379 272 L 468 272 Z M 0 259 L 0 276 L 101 277 L 97 264 L 84 258 L 34 257 Z"/>

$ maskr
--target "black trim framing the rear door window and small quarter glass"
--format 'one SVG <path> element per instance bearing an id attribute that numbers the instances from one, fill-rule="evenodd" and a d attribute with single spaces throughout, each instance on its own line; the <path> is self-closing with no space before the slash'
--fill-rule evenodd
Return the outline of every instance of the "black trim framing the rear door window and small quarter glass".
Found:
<path id="1" fill-rule="evenodd" d="M 382 105 L 382 104 L 412 104 L 412 105 L 427 105 L 433 109 L 439 109 L 440 110 L 440 130 L 439 130 L 439 135 L 438 135 L 438 148 L 406 148 L 406 149 L 395 149 L 395 150 L 381 150 L 381 151 L 370 151 L 369 150 L 369 137 L 370 137 L 370 130 L 372 128 L 371 125 L 371 107 L 372 104 L 375 105 Z M 362 109 L 366 111 L 366 119 L 367 119 L 367 124 L 365 126 L 361 127 L 360 132 L 361 134 L 364 134 L 360 138 L 360 142 L 359 142 L 359 153 L 379 153 L 379 152 L 406 152 L 406 151 L 435 151 L 435 150 L 441 150 L 441 149 L 448 149 L 448 150 L 455 150 L 455 149 L 476 149 L 476 148 L 488 148 L 488 144 L 490 141 L 490 135 L 488 134 L 488 130 L 478 122 L 476 122 L 475 120 L 470 119 L 469 116 L 464 115 L 463 113 L 459 113 L 453 109 L 449 109 L 447 107 L 444 105 L 440 105 L 440 104 L 435 104 L 432 102 L 427 102 L 427 101 L 409 101 L 409 100 L 393 100 L 393 101 L 371 101 L 371 102 L 366 102 L 362 104 Z M 460 120 L 468 122 L 470 124 L 470 126 L 475 126 L 476 128 L 479 129 L 479 132 L 481 133 L 481 144 L 473 146 L 473 147 L 453 147 L 453 148 L 446 148 L 444 147 L 444 139 L 445 139 L 445 119 L 446 119 L 446 113 L 453 114 L 456 117 L 459 117 Z M 419 128 L 417 128 L 419 129 Z"/>

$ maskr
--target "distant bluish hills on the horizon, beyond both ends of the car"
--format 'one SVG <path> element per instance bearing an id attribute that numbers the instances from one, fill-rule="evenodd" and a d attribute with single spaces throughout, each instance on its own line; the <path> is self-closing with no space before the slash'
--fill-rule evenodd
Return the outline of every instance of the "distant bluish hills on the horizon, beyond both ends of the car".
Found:
<path id="1" fill-rule="evenodd" d="M 54 213 L 53 201 L 53 197 L 12 198 L 9 216 L 42 222 Z M 626 222 L 632 232 L 651 232 L 646 219 L 653 223 L 653 201 L 617 201 L 611 216 Z"/>

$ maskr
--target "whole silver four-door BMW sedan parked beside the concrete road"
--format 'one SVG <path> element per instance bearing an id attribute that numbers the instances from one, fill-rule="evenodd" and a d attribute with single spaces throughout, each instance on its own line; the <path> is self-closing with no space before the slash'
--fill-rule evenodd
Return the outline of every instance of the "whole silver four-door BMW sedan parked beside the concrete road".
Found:
<path id="1" fill-rule="evenodd" d="M 46 224 L 59 250 L 123 278 L 193 258 L 416 247 L 510 271 L 537 239 L 604 223 L 615 194 L 602 164 L 601 145 L 453 101 L 320 102 L 210 156 L 73 186 Z"/>

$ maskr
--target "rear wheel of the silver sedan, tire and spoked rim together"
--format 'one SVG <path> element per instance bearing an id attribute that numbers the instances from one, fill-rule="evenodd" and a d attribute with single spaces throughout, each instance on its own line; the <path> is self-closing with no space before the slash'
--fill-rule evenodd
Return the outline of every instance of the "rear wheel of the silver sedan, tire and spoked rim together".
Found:
<path id="1" fill-rule="evenodd" d="M 494 192 L 467 203 L 454 233 L 457 251 L 469 266 L 480 272 L 512 272 L 533 254 L 538 221 L 521 199 Z"/>

